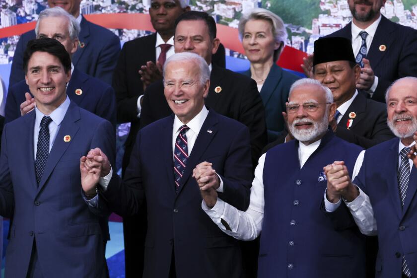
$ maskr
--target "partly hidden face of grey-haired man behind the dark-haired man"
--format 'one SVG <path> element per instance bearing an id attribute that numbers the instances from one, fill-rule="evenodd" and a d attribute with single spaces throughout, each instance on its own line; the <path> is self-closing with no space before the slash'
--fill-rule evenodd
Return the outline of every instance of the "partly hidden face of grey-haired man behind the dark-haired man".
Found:
<path id="1" fill-rule="evenodd" d="M 63 16 L 44 17 L 39 22 L 38 36 L 36 38 L 47 37 L 59 41 L 71 56 L 77 50 L 78 39 L 72 40 L 70 38 L 68 24 L 68 19 Z"/>

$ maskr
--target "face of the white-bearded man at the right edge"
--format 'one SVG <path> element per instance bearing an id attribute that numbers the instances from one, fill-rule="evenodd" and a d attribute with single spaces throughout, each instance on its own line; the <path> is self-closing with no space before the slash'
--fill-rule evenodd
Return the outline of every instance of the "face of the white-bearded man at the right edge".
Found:
<path id="1" fill-rule="evenodd" d="M 417 81 L 395 83 L 387 98 L 387 123 L 395 136 L 413 141 L 417 131 Z M 409 145 L 409 144 L 406 144 Z"/>

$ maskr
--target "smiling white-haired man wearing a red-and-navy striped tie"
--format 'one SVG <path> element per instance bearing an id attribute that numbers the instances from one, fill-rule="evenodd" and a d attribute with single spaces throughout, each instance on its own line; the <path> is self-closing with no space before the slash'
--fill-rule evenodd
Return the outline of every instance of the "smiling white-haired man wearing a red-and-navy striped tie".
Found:
<path id="1" fill-rule="evenodd" d="M 204 105 L 210 71 L 202 57 L 174 54 L 163 72 L 174 115 L 139 131 L 124 182 L 98 148 L 81 167 L 101 167 L 99 188 L 109 208 L 120 215 L 137 213 L 146 198 L 143 277 L 240 278 L 239 242 L 223 234 L 201 209 L 199 185 L 211 186 L 236 208 L 248 207 L 248 128 Z M 83 186 L 93 189 L 98 182 L 83 179 Z"/>

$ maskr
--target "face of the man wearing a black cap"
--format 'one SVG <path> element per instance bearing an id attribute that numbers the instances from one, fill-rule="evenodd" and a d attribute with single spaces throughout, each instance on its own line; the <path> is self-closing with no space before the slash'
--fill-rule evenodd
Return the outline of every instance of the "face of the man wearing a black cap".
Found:
<path id="1" fill-rule="evenodd" d="M 314 66 L 314 79 L 332 91 L 338 107 L 353 96 L 359 78 L 359 66 L 352 69 L 348 61 L 333 61 Z"/>

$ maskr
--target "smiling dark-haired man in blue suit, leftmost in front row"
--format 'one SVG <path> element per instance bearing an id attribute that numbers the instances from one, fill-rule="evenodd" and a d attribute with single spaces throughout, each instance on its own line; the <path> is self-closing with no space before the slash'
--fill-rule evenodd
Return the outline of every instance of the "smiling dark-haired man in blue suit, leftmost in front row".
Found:
<path id="1" fill-rule="evenodd" d="M 94 147 L 114 161 L 113 127 L 66 95 L 71 60 L 61 43 L 30 41 L 23 64 L 36 106 L 6 124 L 1 140 L 0 214 L 11 218 L 5 276 L 108 277 L 108 210 L 82 189 L 79 165 Z"/>

